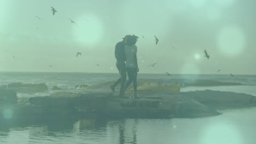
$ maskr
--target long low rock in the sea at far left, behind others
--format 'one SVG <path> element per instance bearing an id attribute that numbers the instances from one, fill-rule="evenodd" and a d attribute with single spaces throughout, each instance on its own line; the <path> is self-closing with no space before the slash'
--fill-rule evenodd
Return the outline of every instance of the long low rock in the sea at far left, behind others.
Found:
<path id="1" fill-rule="evenodd" d="M 20 93 L 37 93 L 44 92 L 48 90 L 48 87 L 45 83 L 39 84 L 22 84 L 22 83 L 10 83 L 6 87 L 7 89 L 13 89 L 16 92 Z"/>

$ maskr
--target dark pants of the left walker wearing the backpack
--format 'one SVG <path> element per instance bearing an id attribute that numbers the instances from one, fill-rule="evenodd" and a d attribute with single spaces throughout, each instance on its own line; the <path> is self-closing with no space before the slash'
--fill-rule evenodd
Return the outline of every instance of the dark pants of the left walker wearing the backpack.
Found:
<path id="1" fill-rule="evenodd" d="M 114 82 L 113 86 L 116 87 L 119 83 L 121 83 L 121 87 L 120 87 L 120 95 L 121 95 L 124 92 L 124 86 L 126 81 L 125 62 L 117 61 L 116 65 L 120 74 L 120 78 Z"/>

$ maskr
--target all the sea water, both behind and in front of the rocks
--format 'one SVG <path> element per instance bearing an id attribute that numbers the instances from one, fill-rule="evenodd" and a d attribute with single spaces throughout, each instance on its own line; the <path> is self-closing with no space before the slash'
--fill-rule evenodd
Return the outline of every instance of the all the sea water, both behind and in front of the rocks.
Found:
<path id="1" fill-rule="evenodd" d="M 78 92 L 75 85 L 117 80 L 119 74 L 1 72 L 0 86 L 9 83 L 45 83 L 49 90 L 18 97 L 41 97 L 61 91 Z M 181 91 L 211 89 L 256 96 L 256 75 L 138 74 L 138 79 L 181 83 Z M 229 82 L 229 85 L 220 84 Z M 240 83 L 241 85 L 234 85 Z M 108 90 L 106 90 L 108 91 Z M 110 91 L 110 89 L 109 89 Z M 224 110 L 214 117 L 172 119 L 58 119 L 45 123 L 0 124 L 0 143 L 247 143 L 256 141 L 256 107 Z"/>

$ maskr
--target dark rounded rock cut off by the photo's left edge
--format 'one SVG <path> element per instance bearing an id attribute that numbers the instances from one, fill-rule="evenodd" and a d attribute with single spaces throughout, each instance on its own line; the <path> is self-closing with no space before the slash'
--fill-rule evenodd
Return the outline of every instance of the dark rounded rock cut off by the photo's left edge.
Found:
<path id="1" fill-rule="evenodd" d="M 0 106 L 18 104 L 16 92 L 9 89 L 0 89 Z"/>

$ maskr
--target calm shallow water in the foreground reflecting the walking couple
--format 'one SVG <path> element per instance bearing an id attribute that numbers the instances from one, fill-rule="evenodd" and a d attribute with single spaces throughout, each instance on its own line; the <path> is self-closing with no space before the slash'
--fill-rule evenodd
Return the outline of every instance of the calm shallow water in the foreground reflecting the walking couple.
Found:
<path id="1" fill-rule="evenodd" d="M 173 119 L 80 119 L 0 129 L 0 143 L 247 143 L 256 140 L 256 108 Z"/>

